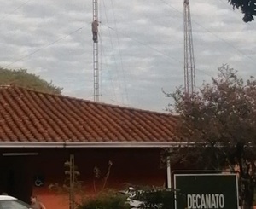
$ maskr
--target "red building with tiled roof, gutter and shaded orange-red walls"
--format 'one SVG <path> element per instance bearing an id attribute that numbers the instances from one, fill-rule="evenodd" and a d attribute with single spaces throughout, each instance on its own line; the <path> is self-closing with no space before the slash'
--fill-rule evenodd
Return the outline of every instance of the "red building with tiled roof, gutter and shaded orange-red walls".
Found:
<path id="1" fill-rule="evenodd" d="M 95 191 L 94 167 L 107 171 L 108 160 L 113 162 L 108 188 L 161 186 L 166 170 L 160 167 L 160 151 L 174 143 L 176 122 L 167 113 L 2 86 L 0 192 L 25 201 L 37 194 L 48 208 L 67 208 L 48 185 L 63 183 L 70 154 L 86 193 Z M 44 184 L 37 185 L 37 178 Z"/>

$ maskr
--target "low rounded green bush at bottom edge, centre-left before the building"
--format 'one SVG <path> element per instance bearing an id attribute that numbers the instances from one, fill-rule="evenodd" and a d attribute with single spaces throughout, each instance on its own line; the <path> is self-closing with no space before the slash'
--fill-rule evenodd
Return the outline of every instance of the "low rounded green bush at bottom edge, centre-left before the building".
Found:
<path id="1" fill-rule="evenodd" d="M 126 198 L 125 195 L 108 190 L 84 201 L 77 209 L 129 209 Z"/>

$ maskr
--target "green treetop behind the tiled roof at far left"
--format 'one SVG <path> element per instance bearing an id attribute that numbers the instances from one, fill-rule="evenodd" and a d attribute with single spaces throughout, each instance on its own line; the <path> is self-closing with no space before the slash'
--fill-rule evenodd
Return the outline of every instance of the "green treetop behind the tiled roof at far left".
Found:
<path id="1" fill-rule="evenodd" d="M 47 82 L 39 76 L 27 73 L 26 69 L 9 70 L 0 67 L 0 85 L 15 84 L 32 90 L 38 90 L 45 93 L 61 94 L 61 88 L 51 82 Z"/>

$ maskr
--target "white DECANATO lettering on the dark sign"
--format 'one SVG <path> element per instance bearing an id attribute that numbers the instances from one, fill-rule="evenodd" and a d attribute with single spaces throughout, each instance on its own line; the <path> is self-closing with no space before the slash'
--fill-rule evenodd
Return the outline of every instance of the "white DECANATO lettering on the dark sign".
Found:
<path id="1" fill-rule="evenodd" d="M 188 194 L 188 209 L 224 208 L 224 194 Z"/>

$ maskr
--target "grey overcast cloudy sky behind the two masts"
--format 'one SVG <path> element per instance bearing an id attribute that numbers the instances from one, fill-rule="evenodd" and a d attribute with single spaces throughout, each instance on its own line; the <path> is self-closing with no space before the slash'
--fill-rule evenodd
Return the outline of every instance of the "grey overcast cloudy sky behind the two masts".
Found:
<path id="1" fill-rule="evenodd" d="M 0 66 L 93 100 L 92 0 L 0 0 Z M 255 76 L 256 21 L 226 0 L 190 0 L 196 86 L 229 64 Z M 183 85 L 183 0 L 99 0 L 102 102 L 163 112 Z"/>

